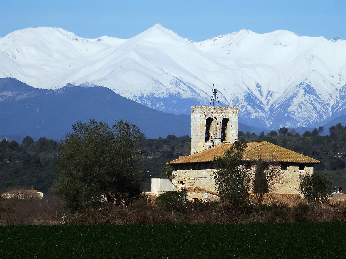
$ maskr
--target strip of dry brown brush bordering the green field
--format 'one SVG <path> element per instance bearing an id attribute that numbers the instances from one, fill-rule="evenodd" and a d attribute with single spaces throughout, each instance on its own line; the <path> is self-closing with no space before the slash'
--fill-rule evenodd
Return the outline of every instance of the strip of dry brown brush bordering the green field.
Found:
<path id="1" fill-rule="evenodd" d="M 26 201 L 1 199 L 0 224 L 4 225 L 128 225 L 156 223 L 264 223 L 299 221 L 346 221 L 345 202 L 311 207 L 306 203 L 288 207 L 264 205 L 231 208 L 220 202 L 188 203 L 180 211 L 158 208 L 148 199 L 129 206 L 101 205 L 79 213 L 66 213 L 55 197 Z"/>

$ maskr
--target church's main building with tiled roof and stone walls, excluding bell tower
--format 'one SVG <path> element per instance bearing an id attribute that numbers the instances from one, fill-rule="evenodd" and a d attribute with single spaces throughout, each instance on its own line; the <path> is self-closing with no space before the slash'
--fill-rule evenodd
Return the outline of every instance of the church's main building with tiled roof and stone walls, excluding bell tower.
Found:
<path id="1" fill-rule="evenodd" d="M 221 143 L 192 155 L 175 159 L 170 162 L 173 166 L 173 174 L 183 178 L 186 186 L 199 186 L 217 193 L 215 180 L 212 177 L 215 170 L 212 160 L 214 157 L 222 157 L 230 147 L 229 142 Z M 320 162 L 270 142 L 247 143 L 243 154 L 245 168 L 251 169 L 260 158 L 263 161 L 274 162 L 280 167 L 279 170 L 282 170 L 285 182 L 275 187 L 276 193 L 297 194 L 299 173 L 313 173 L 313 165 Z"/>

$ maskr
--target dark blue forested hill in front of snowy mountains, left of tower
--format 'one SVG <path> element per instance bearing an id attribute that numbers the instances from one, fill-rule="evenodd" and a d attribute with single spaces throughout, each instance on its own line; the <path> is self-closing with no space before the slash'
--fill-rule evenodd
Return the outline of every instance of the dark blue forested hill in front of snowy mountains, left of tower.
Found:
<path id="1" fill-rule="evenodd" d="M 190 134 L 189 115 L 148 108 L 106 87 L 69 84 L 61 89 L 45 90 L 14 78 L 1 78 L 0 101 L 2 137 L 30 135 L 34 139 L 60 140 L 76 120 L 88 122 L 91 118 L 107 122 L 109 126 L 116 120 L 128 120 L 150 138 Z"/>

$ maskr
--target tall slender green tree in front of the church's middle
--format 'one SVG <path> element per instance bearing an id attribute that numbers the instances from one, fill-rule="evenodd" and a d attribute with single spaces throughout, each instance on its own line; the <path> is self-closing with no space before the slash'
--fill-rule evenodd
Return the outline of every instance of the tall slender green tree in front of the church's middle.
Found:
<path id="1" fill-rule="evenodd" d="M 249 177 L 242 165 L 246 147 L 245 140 L 239 139 L 223 157 L 215 157 L 212 161 L 217 191 L 221 200 L 229 205 L 242 206 L 249 202 Z"/>

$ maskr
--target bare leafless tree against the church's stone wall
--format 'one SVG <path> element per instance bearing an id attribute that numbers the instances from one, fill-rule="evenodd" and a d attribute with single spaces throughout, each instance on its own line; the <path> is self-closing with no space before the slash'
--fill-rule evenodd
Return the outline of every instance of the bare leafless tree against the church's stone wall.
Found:
<path id="1" fill-rule="evenodd" d="M 285 171 L 277 159 L 271 158 L 263 160 L 262 156 L 258 155 L 258 159 L 248 162 L 250 164 L 248 174 L 252 184 L 252 191 L 256 195 L 258 205 L 262 206 L 262 201 L 265 193 L 271 193 L 276 190 L 276 186 L 286 183 Z"/>

